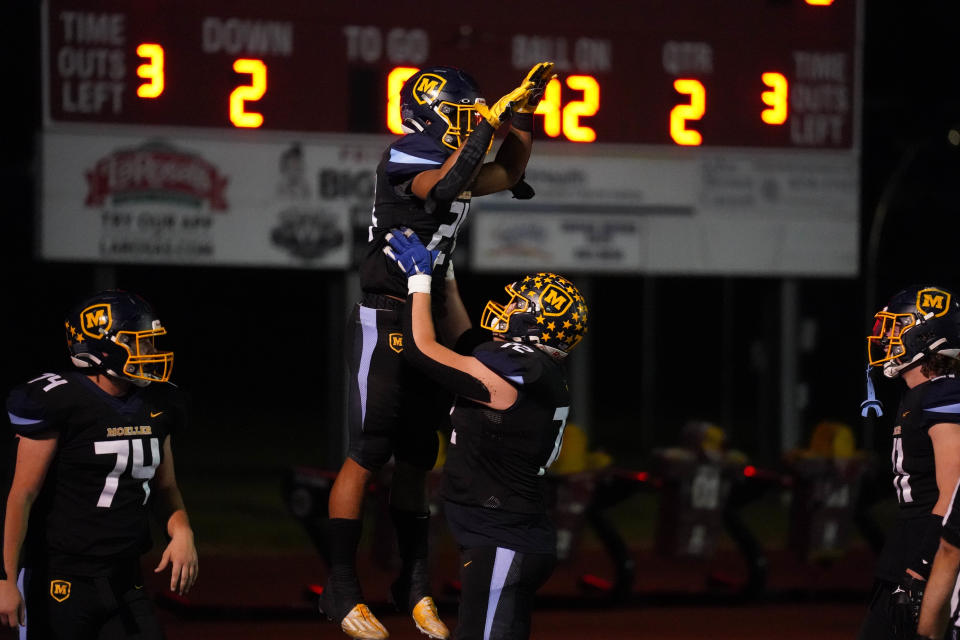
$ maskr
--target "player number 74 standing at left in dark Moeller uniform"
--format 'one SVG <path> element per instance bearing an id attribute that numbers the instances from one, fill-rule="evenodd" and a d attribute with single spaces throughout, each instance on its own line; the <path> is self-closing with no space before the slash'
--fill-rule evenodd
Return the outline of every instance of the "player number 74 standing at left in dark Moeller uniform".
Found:
<path id="1" fill-rule="evenodd" d="M 140 571 L 151 511 L 169 536 L 155 571 L 170 567 L 181 595 L 197 579 L 170 444 L 185 420 L 166 384 L 173 352 L 158 349 L 166 329 L 133 293 L 98 293 L 65 324 L 76 369 L 37 376 L 7 399 L 18 443 L 0 624 L 23 625 L 31 639 L 159 639 Z"/>

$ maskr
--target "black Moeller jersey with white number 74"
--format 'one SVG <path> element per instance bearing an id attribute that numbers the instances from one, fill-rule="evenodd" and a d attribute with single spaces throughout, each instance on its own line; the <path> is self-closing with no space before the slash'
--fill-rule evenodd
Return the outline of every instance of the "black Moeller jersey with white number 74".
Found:
<path id="1" fill-rule="evenodd" d="M 173 385 L 117 398 L 79 372 L 46 373 L 7 398 L 14 432 L 58 434 L 30 514 L 25 566 L 97 575 L 150 547 L 150 480 L 185 411 Z"/>

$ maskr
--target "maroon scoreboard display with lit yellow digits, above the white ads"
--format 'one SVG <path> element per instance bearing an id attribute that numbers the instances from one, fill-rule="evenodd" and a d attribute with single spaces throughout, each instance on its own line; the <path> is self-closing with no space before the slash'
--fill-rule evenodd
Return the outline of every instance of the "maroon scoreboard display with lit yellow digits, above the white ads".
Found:
<path id="1" fill-rule="evenodd" d="M 47 121 L 398 133 L 396 92 L 418 68 L 462 67 L 494 101 L 553 60 L 548 139 L 856 145 L 852 0 L 496 6 L 49 0 Z"/>

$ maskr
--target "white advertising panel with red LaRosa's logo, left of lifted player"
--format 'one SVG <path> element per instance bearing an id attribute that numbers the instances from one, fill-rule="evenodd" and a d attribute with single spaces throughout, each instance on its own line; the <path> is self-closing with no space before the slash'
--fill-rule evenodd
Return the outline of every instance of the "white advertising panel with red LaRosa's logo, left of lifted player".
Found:
<path id="1" fill-rule="evenodd" d="M 385 142 L 46 133 L 41 256 L 345 269 Z"/>

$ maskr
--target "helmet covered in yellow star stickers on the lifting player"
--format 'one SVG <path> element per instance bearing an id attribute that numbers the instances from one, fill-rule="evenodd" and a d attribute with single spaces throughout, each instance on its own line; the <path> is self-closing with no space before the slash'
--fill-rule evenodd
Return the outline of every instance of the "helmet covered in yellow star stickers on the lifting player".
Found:
<path id="1" fill-rule="evenodd" d="M 507 304 L 487 302 L 480 318 L 480 326 L 495 336 L 536 345 L 560 359 L 587 333 L 587 303 L 563 276 L 541 272 L 504 289 Z"/>

